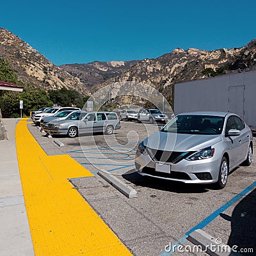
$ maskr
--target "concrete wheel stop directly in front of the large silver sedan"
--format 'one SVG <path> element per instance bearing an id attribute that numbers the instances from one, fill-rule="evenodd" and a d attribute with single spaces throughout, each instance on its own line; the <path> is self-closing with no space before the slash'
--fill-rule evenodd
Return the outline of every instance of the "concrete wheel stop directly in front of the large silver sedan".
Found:
<path id="1" fill-rule="evenodd" d="M 108 181 L 109 184 L 111 184 L 114 188 L 118 189 L 118 191 L 120 191 L 128 198 L 138 197 L 138 193 L 135 189 L 131 188 L 130 186 L 122 182 L 122 180 L 116 178 L 114 175 L 111 175 L 110 173 L 104 172 L 102 170 L 98 172 L 98 175 L 104 180 Z"/>

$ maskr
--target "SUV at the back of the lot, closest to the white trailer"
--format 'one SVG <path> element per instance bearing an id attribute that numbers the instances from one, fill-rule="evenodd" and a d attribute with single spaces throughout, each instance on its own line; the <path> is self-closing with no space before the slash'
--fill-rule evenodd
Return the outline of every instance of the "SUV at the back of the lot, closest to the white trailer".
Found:
<path id="1" fill-rule="evenodd" d="M 164 115 L 159 109 L 141 108 L 138 113 L 139 122 L 164 123 L 168 122 L 168 116 Z"/>

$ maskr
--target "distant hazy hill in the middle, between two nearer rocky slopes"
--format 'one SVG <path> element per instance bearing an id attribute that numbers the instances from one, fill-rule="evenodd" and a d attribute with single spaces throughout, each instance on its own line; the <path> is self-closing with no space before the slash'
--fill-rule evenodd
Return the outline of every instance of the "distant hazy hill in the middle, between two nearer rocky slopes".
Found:
<path id="1" fill-rule="evenodd" d="M 138 61 L 93 61 L 86 64 L 66 64 L 60 67 L 74 77 L 78 77 L 83 86 L 93 90 L 96 84 L 102 84 L 108 79 L 121 76 L 127 69 L 131 68 Z"/>

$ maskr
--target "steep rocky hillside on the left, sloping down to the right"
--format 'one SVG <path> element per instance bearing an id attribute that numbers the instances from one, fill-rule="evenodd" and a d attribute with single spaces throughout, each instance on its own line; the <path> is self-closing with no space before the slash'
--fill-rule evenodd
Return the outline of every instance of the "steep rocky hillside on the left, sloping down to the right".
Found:
<path id="1" fill-rule="evenodd" d="M 8 60 L 20 81 L 45 90 L 62 87 L 88 95 L 78 77 L 71 76 L 10 31 L 0 28 L 0 58 Z"/>

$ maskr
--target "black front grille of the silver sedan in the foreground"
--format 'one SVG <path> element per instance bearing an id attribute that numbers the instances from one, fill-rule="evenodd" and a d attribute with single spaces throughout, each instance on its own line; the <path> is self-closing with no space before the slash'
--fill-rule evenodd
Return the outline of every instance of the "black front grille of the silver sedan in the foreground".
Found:
<path id="1" fill-rule="evenodd" d="M 147 152 L 155 161 L 163 163 L 178 163 L 189 154 L 188 152 L 175 152 L 152 148 L 147 148 Z"/>

